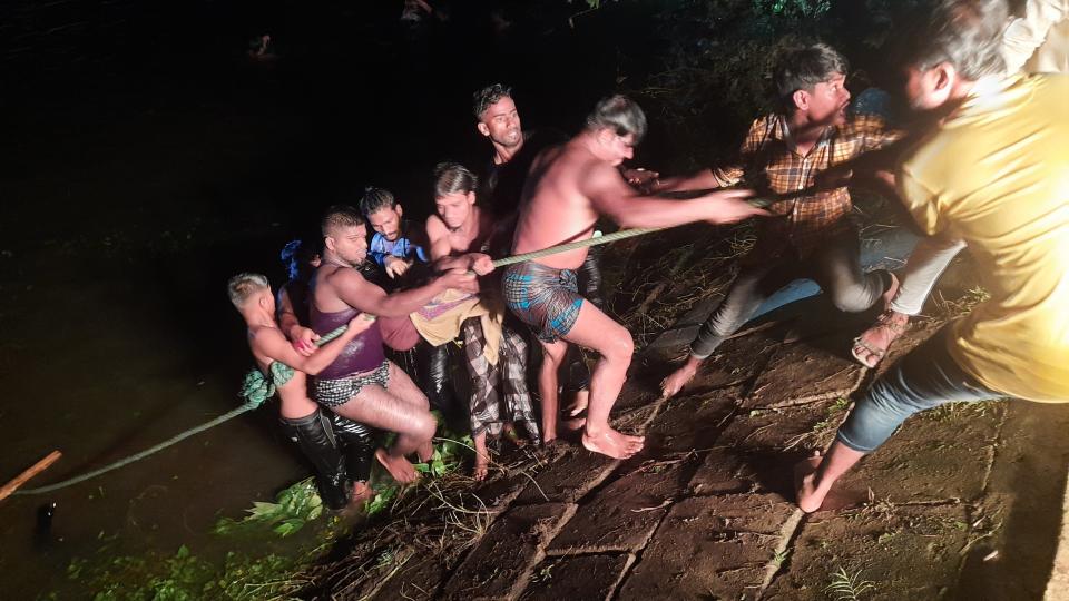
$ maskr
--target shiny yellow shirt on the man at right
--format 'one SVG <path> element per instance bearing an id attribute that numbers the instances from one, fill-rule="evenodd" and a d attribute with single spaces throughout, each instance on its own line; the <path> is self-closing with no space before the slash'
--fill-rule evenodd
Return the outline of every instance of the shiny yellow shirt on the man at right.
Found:
<path id="1" fill-rule="evenodd" d="M 1009 396 L 1069 401 L 1069 76 L 981 79 L 899 186 L 924 231 L 969 245 L 991 294 L 953 325 L 954 361 Z"/>

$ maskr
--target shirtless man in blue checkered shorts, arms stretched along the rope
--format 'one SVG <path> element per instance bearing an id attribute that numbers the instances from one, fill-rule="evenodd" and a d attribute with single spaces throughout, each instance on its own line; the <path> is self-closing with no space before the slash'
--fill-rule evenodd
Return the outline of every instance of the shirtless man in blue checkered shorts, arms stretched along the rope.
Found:
<path id="1" fill-rule="evenodd" d="M 645 132 L 646 116 L 638 105 L 612 96 L 598 102 L 579 135 L 543 151 L 523 189 L 512 253 L 589 238 L 599 215 L 621 227 L 725 224 L 766 215 L 744 200 L 748 190 L 722 190 L 693 200 L 637 196 L 617 166 L 631 158 Z M 542 439 L 557 436 L 557 370 L 568 343 L 578 344 L 601 355 L 590 381 L 582 444 L 596 453 L 629 457 L 641 450 L 644 439 L 612 430 L 609 412 L 624 386 L 634 342 L 624 326 L 579 296 L 573 269 L 586 256 L 587 249 L 580 248 L 509 267 L 504 298 L 542 345 Z"/>

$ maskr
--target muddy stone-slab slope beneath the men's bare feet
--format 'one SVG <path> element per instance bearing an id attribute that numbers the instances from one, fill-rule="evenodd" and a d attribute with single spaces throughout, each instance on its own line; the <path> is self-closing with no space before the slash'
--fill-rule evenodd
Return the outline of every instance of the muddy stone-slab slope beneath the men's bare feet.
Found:
<path id="1" fill-rule="evenodd" d="M 914 416 L 822 511 L 792 502 L 794 462 L 965 308 L 972 277 L 959 262 L 876 370 L 847 351 L 872 316 L 817 297 L 754 324 L 664 401 L 656 383 L 685 352 L 669 328 L 636 356 L 615 413 L 647 436 L 639 455 L 612 461 L 575 441 L 504 452 L 489 483 L 398 505 L 403 521 L 359 534 L 302 597 L 1040 599 L 1069 464 L 1062 407 L 1007 400 Z M 692 313 L 715 304 L 705 296 Z"/>

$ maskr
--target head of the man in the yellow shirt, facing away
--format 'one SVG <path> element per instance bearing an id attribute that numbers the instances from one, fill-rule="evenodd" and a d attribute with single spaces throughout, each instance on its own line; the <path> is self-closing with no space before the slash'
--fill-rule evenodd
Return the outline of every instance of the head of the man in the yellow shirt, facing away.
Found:
<path id="1" fill-rule="evenodd" d="M 963 85 L 1002 75 L 1008 18 L 1006 0 L 929 0 L 912 12 L 893 49 L 910 105 L 938 109 L 961 98 Z"/>

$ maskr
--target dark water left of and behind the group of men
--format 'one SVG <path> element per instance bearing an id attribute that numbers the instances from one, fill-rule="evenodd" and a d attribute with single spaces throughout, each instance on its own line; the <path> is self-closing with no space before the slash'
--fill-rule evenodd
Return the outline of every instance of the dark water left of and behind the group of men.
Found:
<path id="1" fill-rule="evenodd" d="M 226 278 L 261 270 L 277 282 L 282 244 L 369 184 L 425 215 L 437 161 L 487 158 L 470 115 L 475 88 L 510 81 L 526 125 L 575 129 L 646 60 L 634 58 L 641 14 L 580 35 L 557 7 L 561 16 L 502 36 L 458 10 L 413 36 L 400 7 L 385 7 L 129 12 L 97 38 L 9 57 L 0 479 L 59 449 L 62 460 L 28 486 L 57 482 L 233 408 L 249 358 Z M 244 59 L 262 31 L 277 40 L 271 67 Z M 187 544 L 222 555 L 233 543 L 209 534 L 218 516 L 308 473 L 275 411 L 91 482 L 0 502 L 0 598 L 77 591 L 67 565 L 99 556 L 102 541 L 112 553 Z M 52 503 L 50 528 L 36 532 Z"/>

